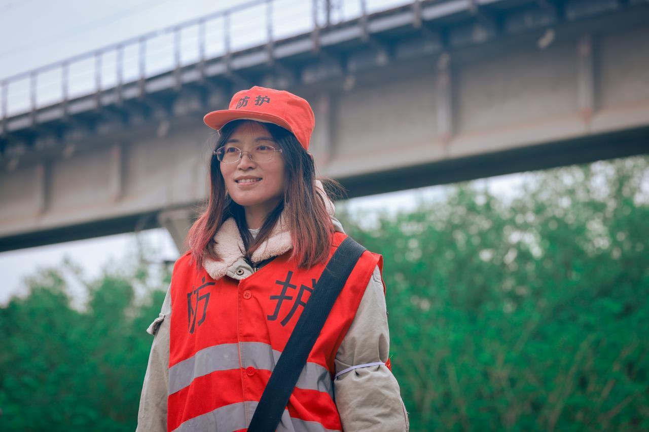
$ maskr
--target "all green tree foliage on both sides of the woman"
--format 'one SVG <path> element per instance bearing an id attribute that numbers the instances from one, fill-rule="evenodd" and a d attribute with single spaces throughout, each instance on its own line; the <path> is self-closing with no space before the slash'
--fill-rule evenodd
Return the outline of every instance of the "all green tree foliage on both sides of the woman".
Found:
<path id="1" fill-rule="evenodd" d="M 411 430 L 649 429 L 649 158 L 474 183 L 348 234 L 384 256 L 393 371 Z M 0 430 L 132 431 L 166 280 L 60 269 L 0 309 Z M 151 285 L 136 296 L 136 285 Z"/>

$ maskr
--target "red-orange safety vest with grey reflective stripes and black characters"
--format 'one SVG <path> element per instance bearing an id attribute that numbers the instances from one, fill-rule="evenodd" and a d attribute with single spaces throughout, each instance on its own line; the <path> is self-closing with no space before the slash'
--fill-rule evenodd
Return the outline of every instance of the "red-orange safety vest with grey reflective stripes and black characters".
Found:
<path id="1" fill-rule="evenodd" d="M 347 235 L 336 232 L 329 259 Z M 168 431 L 245 431 L 271 372 L 326 263 L 298 269 L 291 251 L 247 278 L 214 280 L 191 255 L 171 278 Z M 336 352 L 372 277 L 383 268 L 365 251 L 324 323 L 278 426 L 341 431 L 334 402 Z"/>

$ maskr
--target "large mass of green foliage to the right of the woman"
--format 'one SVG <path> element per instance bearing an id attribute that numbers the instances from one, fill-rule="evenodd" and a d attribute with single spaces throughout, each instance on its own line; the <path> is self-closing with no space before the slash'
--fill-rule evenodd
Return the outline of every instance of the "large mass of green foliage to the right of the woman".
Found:
<path id="1" fill-rule="evenodd" d="M 350 234 L 384 256 L 411 429 L 649 429 L 649 158 L 471 184 Z M 644 188 L 644 189 L 643 189 Z"/>

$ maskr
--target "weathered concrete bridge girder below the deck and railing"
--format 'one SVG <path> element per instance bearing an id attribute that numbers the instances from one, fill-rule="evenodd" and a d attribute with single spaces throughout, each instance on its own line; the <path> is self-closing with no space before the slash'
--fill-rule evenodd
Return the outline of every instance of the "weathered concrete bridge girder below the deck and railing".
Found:
<path id="1" fill-rule="evenodd" d="M 387 62 L 363 45 L 337 66 L 302 66 L 291 90 L 312 102 L 320 174 L 358 196 L 647 152 L 649 12 L 638 11 L 461 49 L 440 51 L 434 32 L 410 57 L 406 41 Z M 182 251 L 208 191 L 215 134 L 202 114 L 229 94 L 200 89 L 183 88 L 169 117 L 80 135 L 73 151 L 23 150 L 0 171 L 0 250 L 165 226 Z"/>

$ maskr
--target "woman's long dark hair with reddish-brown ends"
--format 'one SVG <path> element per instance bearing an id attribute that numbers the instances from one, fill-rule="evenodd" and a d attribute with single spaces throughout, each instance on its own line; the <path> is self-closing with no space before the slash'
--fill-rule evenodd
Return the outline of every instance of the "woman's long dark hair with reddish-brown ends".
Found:
<path id="1" fill-rule="evenodd" d="M 215 150 L 225 145 L 239 125 L 251 121 L 253 120 L 236 120 L 223 126 Z M 285 128 L 273 123 L 260 123 L 260 125 L 268 130 L 275 143 L 284 150 L 280 156 L 284 158 L 288 174 L 284 198 L 267 215 L 259 234 L 252 238 L 244 209 L 227 195 L 223 174 L 221 174 L 221 163 L 216 155 L 212 154 L 210 197 L 207 207 L 191 226 L 187 237 L 191 256 L 198 268 L 202 267 L 205 258 L 221 261 L 221 257 L 214 252 L 214 235 L 229 217 L 234 217 L 241 239 L 243 239 L 245 254 L 250 257 L 269 237 L 282 212 L 284 212 L 284 218 L 293 241 L 291 259 L 296 259 L 298 267 L 310 268 L 328 258 L 334 224 L 326 210 L 323 197 L 316 191 L 315 164 L 312 157 L 300 145 L 295 135 Z M 328 186 L 326 189 L 334 193 L 341 190 L 335 180 L 330 178 L 320 178 L 319 180 Z"/>

